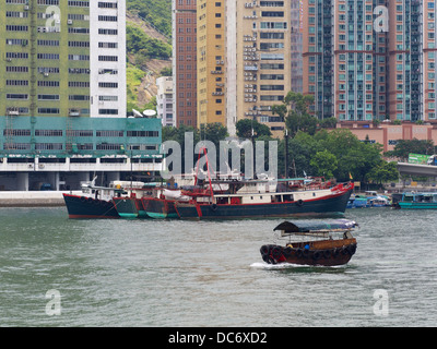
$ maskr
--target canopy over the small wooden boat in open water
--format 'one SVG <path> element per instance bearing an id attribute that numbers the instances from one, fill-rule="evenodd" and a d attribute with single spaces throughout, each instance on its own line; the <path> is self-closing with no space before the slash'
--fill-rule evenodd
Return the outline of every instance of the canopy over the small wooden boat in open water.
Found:
<path id="1" fill-rule="evenodd" d="M 303 221 L 284 221 L 273 230 L 283 230 L 285 233 L 293 232 L 311 232 L 320 230 L 345 230 L 357 227 L 354 220 L 349 219 L 323 219 L 323 220 L 303 220 Z"/>

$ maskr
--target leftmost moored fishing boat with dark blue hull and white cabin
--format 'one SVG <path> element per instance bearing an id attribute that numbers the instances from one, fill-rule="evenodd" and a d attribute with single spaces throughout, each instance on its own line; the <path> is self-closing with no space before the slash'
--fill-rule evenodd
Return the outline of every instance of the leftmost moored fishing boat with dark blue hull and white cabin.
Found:
<path id="1" fill-rule="evenodd" d="M 95 185 L 92 182 L 81 185 L 82 194 L 62 193 L 69 218 L 119 218 L 113 197 L 123 195 L 125 189 L 119 185 Z"/>

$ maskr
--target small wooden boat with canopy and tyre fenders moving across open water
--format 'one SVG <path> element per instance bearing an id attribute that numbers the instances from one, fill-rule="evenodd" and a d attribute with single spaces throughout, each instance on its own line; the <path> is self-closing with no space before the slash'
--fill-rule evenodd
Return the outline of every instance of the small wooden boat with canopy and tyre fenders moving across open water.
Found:
<path id="1" fill-rule="evenodd" d="M 356 239 L 351 233 L 357 224 L 349 219 L 284 221 L 273 230 L 288 238 L 285 245 L 264 244 L 260 253 L 269 264 L 344 265 L 356 252 Z"/>

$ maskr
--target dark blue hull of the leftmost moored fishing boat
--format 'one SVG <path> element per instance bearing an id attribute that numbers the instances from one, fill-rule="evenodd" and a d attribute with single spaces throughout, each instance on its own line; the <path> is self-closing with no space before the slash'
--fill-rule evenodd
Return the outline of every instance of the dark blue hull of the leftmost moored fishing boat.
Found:
<path id="1" fill-rule="evenodd" d="M 119 218 L 113 202 L 63 193 L 69 218 Z"/>

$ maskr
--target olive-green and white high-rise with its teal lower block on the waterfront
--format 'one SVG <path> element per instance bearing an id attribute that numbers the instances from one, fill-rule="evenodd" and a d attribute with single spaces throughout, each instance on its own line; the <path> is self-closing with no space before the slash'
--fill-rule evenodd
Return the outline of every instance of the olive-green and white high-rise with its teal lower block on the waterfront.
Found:
<path id="1" fill-rule="evenodd" d="M 126 0 L 2 0 L 0 23 L 0 191 L 161 170 L 161 120 L 127 118 Z"/>

